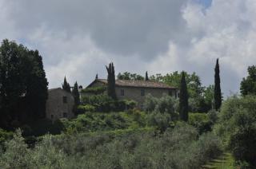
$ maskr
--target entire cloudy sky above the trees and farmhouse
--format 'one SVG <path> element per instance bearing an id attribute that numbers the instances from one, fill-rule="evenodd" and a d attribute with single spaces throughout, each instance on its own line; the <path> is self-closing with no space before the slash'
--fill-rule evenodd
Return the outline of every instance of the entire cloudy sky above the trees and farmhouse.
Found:
<path id="1" fill-rule="evenodd" d="M 95 74 L 186 70 L 222 91 L 239 91 L 256 64 L 255 0 L 0 0 L 0 40 L 38 49 L 50 88 L 66 75 L 86 86 Z"/>

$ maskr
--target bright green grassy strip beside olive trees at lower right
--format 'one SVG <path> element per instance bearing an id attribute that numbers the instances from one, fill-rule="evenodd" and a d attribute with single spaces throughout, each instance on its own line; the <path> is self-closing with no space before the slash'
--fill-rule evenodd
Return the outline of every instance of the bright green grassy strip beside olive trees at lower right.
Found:
<path id="1" fill-rule="evenodd" d="M 224 153 L 218 159 L 214 159 L 202 168 L 233 169 L 234 158 L 230 153 Z"/>

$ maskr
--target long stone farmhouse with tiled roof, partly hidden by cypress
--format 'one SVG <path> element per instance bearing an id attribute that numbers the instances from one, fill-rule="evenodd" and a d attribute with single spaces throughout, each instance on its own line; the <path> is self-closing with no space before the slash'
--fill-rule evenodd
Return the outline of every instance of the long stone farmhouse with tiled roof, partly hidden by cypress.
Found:
<path id="1" fill-rule="evenodd" d="M 107 80 L 96 78 L 86 88 L 102 85 L 107 85 Z M 145 96 L 148 94 L 158 98 L 162 97 L 164 93 L 175 98 L 179 96 L 178 88 L 157 81 L 116 80 L 115 92 L 118 100 L 135 100 L 138 103 L 138 108 L 143 108 Z"/>

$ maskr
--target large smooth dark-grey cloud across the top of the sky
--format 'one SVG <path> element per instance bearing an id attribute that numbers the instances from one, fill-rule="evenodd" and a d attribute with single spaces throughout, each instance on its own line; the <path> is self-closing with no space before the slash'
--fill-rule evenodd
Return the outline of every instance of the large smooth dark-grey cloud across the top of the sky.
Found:
<path id="1" fill-rule="evenodd" d="M 21 33 L 44 25 L 66 36 L 90 34 L 100 49 L 120 56 L 150 59 L 181 41 L 186 23 L 181 9 L 186 0 L 69 0 L 9 2 L 10 19 Z M 68 40 L 68 39 L 67 39 Z"/>

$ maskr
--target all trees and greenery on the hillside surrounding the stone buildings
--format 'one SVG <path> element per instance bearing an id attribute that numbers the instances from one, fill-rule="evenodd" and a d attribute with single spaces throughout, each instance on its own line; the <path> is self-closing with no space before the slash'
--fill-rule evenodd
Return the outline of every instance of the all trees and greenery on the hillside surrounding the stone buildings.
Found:
<path id="1" fill-rule="evenodd" d="M 256 167 L 255 66 L 248 68 L 249 76 L 241 82 L 242 96 L 231 96 L 223 104 L 218 60 L 215 83 L 208 87 L 195 73 L 150 78 L 147 72 L 145 78 L 119 73 L 120 80 L 180 87 L 179 100 L 148 95 L 143 110 L 134 100 L 117 100 L 113 63 L 106 69 L 107 87 L 83 89 L 82 100 L 78 83 L 74 84 L 76 118 L 52 122 L 43 119 L 48 83 L 42 57 L 37 50 L 2 41 L 0 167 Z M 70 92 L 66 77 L 62 88 Z M 14 132 L 15 128 L 20 129 Z"/>

